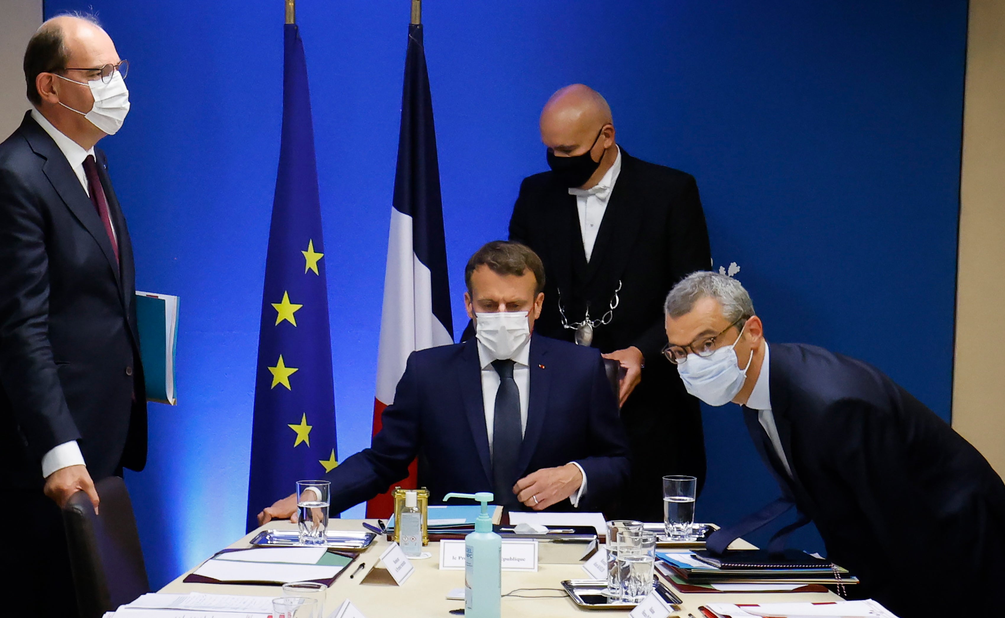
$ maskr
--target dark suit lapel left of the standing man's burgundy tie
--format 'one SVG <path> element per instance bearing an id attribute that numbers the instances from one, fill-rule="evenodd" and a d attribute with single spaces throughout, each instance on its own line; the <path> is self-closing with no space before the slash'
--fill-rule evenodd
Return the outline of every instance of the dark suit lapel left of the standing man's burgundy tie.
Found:
<path id="1" fill-rule="evenodd" d="M 116 262 L 115 250 L 112 248 L 108 232 L 105 231 L 105 224 L 102 223 L 102 218 L 97 216 L 94 204 L 87 197 L 83 187 L 80 186 L 80 181 L 77 180 L 73 169 L 69 167 L 66 157 L 59 150 L 59 147 L 56 146 L 55 142 L 52 141 L 52 138 L 45 133 L 45 130 L 39 127 L 38 123 L 30 116 L 25 116 L 24 122 L 21 123 L 21 130 L 24 132 L 25 139 L 28 141 L 31 149 L 45 158 L 42 173 L 48 178 L 52 188 L 59 194 L 59 198 L 66 204 L 69 211 L 73 213 L 76 220 L 80 222 L 80 225 L 87 230 L 94 239 L 94 242 L 97 243 L 97 246 L 100 247 L 102 252 L 105 253 L 105 258 L 109 262 L 109 267 L 115 276 L 116 283 L 121 285 L 122 282 L 119 275 L 119 266 Z"/>

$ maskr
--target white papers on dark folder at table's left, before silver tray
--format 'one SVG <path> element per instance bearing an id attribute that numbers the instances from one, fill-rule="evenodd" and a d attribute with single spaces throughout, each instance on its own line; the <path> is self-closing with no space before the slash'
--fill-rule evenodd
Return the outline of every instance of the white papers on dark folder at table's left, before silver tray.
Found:
<path id="1" fill-rule="evenodd" d="M 331 585 L 352 561 L 325 547 L 225 550 L 204 562 L 185 581 L 212 584 L 323 582 Z"/>

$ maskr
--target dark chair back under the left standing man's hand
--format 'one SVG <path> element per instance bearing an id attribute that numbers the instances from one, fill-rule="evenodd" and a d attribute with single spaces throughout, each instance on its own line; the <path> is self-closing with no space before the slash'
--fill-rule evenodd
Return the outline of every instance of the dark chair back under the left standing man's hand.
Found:
<path id="1" fill-rule="evenodd" d="M 126 483 L 109 476 L 95 488 L 100 514 L 83 491 L 70 496 L 62 511 L 81 618 L 100 618 L 150 592 Z"/>

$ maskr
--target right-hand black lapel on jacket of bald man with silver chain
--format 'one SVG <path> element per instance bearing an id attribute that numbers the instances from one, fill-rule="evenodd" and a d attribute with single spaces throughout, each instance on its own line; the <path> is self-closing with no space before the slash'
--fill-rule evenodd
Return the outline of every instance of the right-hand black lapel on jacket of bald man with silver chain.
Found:
<path id="1" fill-rule="evenodd" d="M 637 173 L 637 160 L 622 149 L 621 173 L 614 183 L 586 268 L 586 289 L 590 289 L 595 283 L 616 286 L 616 281 L 621 278 L 628 264 L 630 248 L 638 237 L 643 219 L 644 206 L 636 196 Z M 598 276 L 601 272 L 604 276 Z"/>

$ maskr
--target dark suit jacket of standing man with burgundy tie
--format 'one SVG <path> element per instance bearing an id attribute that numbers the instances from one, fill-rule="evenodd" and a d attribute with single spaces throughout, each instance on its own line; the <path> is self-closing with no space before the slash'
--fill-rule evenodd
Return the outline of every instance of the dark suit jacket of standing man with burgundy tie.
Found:
<path id="1" fill-rule="evenodd" d="M 96 481 L 147 458 L 129 230 L 95 149 L 121 266 L 90 198 L 26 114 L 0 144 L 0 483 L 41 486 L 77 440 Z"/>

